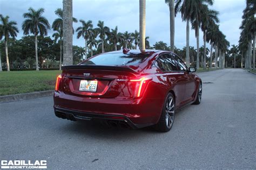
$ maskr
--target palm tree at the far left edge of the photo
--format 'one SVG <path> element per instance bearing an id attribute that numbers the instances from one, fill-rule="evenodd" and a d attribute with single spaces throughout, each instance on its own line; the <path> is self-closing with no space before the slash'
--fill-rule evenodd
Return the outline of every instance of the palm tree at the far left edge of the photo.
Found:
<path id="1" fill-rule="evenodd" d="M 17 37 L 18 28 L 17 23 L 14 21 L 9 22 L 9 16 L 3 17 L 0 15 L 1 24 L 0 24 L 0 39 L 4 36 L 4 45 L 5 45 L 5 56 L 6 56 L 6 67 L 10 71 L 9 66 L 9 56 L 8 56 L 8 39 L 11 36 L 12 38 Z M 2 62 L 0 63 L 2 67 Z"/>

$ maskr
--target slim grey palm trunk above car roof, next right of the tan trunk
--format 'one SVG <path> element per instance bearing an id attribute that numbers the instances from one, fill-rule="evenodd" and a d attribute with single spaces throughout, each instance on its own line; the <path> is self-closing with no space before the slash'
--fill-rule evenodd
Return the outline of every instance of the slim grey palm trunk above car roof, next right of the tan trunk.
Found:
<path id="1" fill-rule="evenodd" d="M 170 10 L 170 45 L 171 45 L 171 51 L 174 52 L 174 27 L 175 27 L 174 0 L 165 0 L 165 3 L 169 5 L 169 10 Z"/>

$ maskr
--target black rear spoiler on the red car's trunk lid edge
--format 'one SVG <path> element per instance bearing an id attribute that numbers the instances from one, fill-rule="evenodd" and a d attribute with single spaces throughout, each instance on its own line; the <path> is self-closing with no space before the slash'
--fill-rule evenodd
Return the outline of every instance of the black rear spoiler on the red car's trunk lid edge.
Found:
<path id="1" fill-rule="evenodd" d="M 70 65 L 70 66 L 62 66 L 62 70 L 70 70 L 70 69 L 100 69 L 100 70 L 115 70 L 120 72 L 130 72 L 133 74 L 139 74 L 134 69 L 130 67 L 122 67 L 122 66 L 99 66 L 99 65 Z"/>

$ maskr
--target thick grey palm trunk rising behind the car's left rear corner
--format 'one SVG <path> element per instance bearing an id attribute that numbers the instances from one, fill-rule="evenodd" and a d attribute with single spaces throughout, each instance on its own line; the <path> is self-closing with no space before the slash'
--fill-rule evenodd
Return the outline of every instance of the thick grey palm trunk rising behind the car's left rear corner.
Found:
<path id="1" fill-rule="evenodd" d="M 72 0 L 63 0 L 63 65 L 73 65 Z"/>

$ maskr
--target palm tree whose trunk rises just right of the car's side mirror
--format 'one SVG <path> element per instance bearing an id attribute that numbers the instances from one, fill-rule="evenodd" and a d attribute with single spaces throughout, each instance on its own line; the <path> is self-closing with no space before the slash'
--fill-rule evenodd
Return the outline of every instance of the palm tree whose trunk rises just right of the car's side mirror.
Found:
<path id="1" fill-rule="evenodd" d="M 199 27 L 201 25 L 201 20 L 204 15 L 207 15 L 206 5 L 213 5 L 212 0 L 194 0 L 191 1 L 190 11 L 192 27 L 195 30 L 197 38 L 197 68 L 199 69 Z"/>

